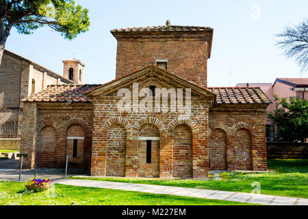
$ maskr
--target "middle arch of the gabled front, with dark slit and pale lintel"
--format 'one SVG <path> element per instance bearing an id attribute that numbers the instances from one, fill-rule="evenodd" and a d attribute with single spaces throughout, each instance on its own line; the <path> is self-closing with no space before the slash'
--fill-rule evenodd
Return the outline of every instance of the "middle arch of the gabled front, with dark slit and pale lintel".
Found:
<path id="1" fill-rule="evenodd" d="M 138 136 L 138 177 L 159 177 L 159 131 L 149 125 Z"/>

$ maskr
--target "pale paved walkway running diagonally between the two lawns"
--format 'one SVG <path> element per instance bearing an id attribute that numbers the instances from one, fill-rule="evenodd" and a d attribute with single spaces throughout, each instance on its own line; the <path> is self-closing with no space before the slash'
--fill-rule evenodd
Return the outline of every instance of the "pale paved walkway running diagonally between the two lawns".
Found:
<path id="1" fill-rule="evenodd" d="M 92 188 L 112 190 L 126 190 L 133 192 L 149 192 L 153 194 L 169 194 L 194 198 L 208 198 L 223 201 L 237 201 L 241 203 L 255 203 L 261 205 L 308 205 L 308 198 L 292 198 L 285 196 L 271 196 L 266 194 L 251 194 L 244 192 L 224 192 L 218 190 L 204 190 L 183 188 L 166 185 L 149 185 L 136 183 L 118 183 L 110 181 L 94 181 L 84 179 L 57 179 L 55 183 L 76 185 Z"/>

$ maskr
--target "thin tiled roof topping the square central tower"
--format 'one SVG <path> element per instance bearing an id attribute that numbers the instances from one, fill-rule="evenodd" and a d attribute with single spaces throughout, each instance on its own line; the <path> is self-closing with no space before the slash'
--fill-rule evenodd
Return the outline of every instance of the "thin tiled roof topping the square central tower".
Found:
<path id="1" fill-rule="evenodd" d="M 111 32 L 158 32 L 158 31 L 213 31 L 211 27 L 199 27 L 199 26 L 179 26 L 179 25 L 164 25 L 153 27 L 129 27 L 112 29 Z"/>

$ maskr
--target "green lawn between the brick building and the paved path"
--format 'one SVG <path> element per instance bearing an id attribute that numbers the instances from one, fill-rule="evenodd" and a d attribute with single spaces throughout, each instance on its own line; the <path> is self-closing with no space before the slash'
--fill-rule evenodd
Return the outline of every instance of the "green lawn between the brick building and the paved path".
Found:
<path id="1" fill-rule="evenodd" d="M 138 179 L 124 177 L 84 178 L 100 181 L 170 185 L 187 188 L 204 188 L 234 192 L 251 192 L 251 183 L 259 182 L 261 194 L 308 198 L 308 160 L 307 159 L 270 159 L 268 170 L 275 172 L 223 172 L 222 180 L 214 179 Z M 77 178 L 77 177 L 73 177 Z"/>

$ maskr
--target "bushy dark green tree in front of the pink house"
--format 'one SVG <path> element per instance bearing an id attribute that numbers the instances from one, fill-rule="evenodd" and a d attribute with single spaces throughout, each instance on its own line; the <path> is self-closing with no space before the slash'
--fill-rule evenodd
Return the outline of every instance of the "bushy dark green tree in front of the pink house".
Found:
<path id="1" fill-rule="evenodd" d="M 277 125 L 278 135 L 285 141 L 305 142 L 308 138 L 308 101 L 275 96 L 276 109 L 268 118 Z"/>

